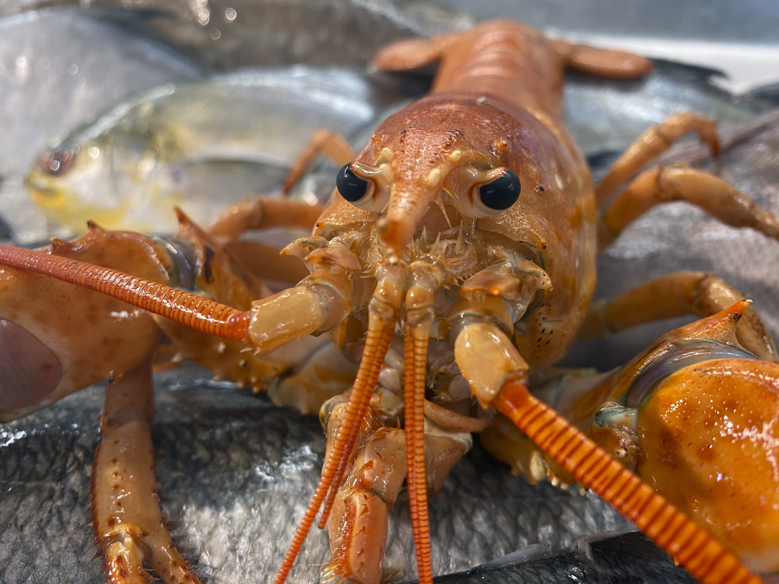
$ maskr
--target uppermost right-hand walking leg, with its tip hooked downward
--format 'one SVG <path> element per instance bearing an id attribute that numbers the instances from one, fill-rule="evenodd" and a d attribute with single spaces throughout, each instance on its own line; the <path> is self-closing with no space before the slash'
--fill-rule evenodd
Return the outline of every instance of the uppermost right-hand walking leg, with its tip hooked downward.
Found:
<path id="1" fill-rule="evenodd" d="M 608 173 L 595 187 L 595 204 L 601 206 L 605 203 L 619 185 L 637 174 L 659 154 L 668 150 L 676 140 L 689 132 L 695 132 L 701 142 L 707 142 L 711 153 L 717 156 L 720 152 L 720 144 L 716 129 L 717 124 L 714 120 L 689 111 L 672 114 L 660 125 L 647 128 L 643 134 L 633 140 L 633 144 L 628 146 L 622 156 L 612 164 Z"/>

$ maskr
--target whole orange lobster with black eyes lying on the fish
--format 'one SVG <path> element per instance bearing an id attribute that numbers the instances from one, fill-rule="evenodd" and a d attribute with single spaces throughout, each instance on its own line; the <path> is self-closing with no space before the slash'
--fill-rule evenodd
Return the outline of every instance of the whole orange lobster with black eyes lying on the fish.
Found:
<path id="1" fill-rule="evenodd" d="M 153 499 L 154 322 L 179 356 L 215 375 L 256 389 L 270 383 L 277 402 L 303 411 L 322 405 L 322 478 L 277 584 L 320 510 L 333 548 L 325 575 L 378 584 L 386 516 L 404 480 L 419 579 L 432 582 L 427 498 L 478 431 L 531 481 L 548 475 L 594 490 L 701 582 L 760 582 L 735 554 L 754 569 L 779 570 L 779 477 L 766 466 L 777 448 L 767 437 L 779 411 L 779 366 L 749 302 L 716 276 L 679 273 L 589 305 L 598 245 L 660 202 L 685 199 L 777 237 L 776 217 L 683 167 L 640 174 L 598 213 L 682 135 L 698 133 L 716 153 L 714 123 L 676 114 L 650 128 L 594 189 L 562 123 L 563 70 L 633 77 L 650 62 L 495 21 L 391 45 L 373 64 L 398 71 L 432 63 L 439 66 L 428 97 L 384 121 L 359 157 L 333 135 L 316 136 L 293 174 L 316 152 L 346 163 L 324 209 L 261 198 L 228 209 L 207 231 L 180 213 L 179 234 L 169 239 L 90 225 L 44 250 L 0 247 L 0 262 L 15 266 L 0 280 L 3 339 L 15 351 L 8 361 L 36 358 L 31 373 L 6 365 L 13 383 L 2 389 L 2 419 L 110 380 L 93 471 L 107 578 L 144 582 L 150 565 L 165 582 L 196 581 Z M 248 228 L 312 224 L 311 237 L 284 249 L 290 262 L 238 240 Z M 257 274 L 294 282 L 295 258 L 308 276 L 271 294 Z M 687 312 L 707 318 L 621 371 L 550 368 L 577 335 Z M 89 315 L 79 323 L 83 340 L 73 335 L 76 314 Z M 327 347 L 316 338 L 323 333 L 333 341 Z M 294 375 L 272 382 L 294 365 Z M 703 398 L 696 409 L 696 392 L 720 400 L 731 425 L 721 439 L 701 430 L 685 447 L 688 420 L 706 428 L 725 420 Z M 674 418 L 679 412 L 687 417 Z M 751 430 L 759 424 L 762 438 Z M 736 451 L 747 446 L 753 472 L 765 477 L 760 508 L 756 486 L 745 488 L 735 468 Z M 721 460 L 732 465 L 723 483 L 730 491 L 709 488 Z M 685 473 L 691 480 L 681 486 L 675 476 Z M 728 496 L 744 501 L 738 512 Z M 734 532 L 734 521 L 749 527 Z"/>

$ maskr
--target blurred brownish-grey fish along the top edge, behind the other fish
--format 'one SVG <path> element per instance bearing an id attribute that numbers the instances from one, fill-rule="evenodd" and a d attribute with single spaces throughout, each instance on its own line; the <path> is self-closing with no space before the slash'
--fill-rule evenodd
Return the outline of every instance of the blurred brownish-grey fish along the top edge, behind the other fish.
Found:
<path id="1" fill-rule="evenodd" d="M 79 0 L 6 0 L 0 14 Z M 93 0 L 91 9 L 197 55 L 215 69 L 248 65 L 363 65 L 405 37 L 473 25 L 474 18 L 414 0 Z"/>

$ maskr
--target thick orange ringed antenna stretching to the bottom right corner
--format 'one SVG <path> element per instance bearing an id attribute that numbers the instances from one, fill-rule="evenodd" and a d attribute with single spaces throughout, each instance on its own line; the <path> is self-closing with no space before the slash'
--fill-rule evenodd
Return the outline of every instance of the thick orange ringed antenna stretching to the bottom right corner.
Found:
<path id="1" fill-rule="evenodd" d="M 523 382 L 506 382 L 492 405 L 576 480 L 636 523 L 701 584 L 763 582 L 661 494 L 530 395 Z"/>

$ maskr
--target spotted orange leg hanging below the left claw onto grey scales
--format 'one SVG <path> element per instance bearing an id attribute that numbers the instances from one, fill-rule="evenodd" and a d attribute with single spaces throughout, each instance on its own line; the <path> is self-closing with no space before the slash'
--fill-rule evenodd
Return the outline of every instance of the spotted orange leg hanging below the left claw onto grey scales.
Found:
<path id="1" fill-rule="evenodd" d="M 165 584 L 199 584 L 167 533 L 157 498 L 150 426 L 150 361 L 108 382 L 100 422 L 103 442 L 92 470 L 92 523 L 110 584 L 146 584 L 144 566 Z"/>

